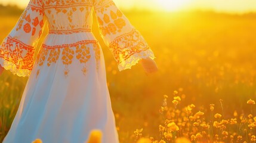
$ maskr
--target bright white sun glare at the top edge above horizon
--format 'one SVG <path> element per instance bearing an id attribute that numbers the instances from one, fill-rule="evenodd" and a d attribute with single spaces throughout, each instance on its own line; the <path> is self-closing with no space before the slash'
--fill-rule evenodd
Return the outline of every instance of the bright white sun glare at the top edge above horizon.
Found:
<path id="1" fill-rule="evenodd" d="M 181 10 L 191 0 L 158 0 L 159 8 L 164 9 L 165 11 L 177 11 Z"/>

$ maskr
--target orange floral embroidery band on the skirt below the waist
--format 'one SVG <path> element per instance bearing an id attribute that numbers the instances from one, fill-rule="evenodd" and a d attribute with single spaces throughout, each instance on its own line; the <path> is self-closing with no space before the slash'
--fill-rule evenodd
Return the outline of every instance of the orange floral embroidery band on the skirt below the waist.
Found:
<path id="1" fill-rule="evenodd" d="M 72 60 L 76 57 L 79 60 L 79 63 L 84 64 L 82 68 L 82 72 L 84 75 L 87 73 L 87 66 L 86 63 L 91 58 L 90 53 L 90 45 L 92 43 L 93 49 L 97 49 L 98 43 L 97 41 L 81 41 L 73 44 L 64 44 L 64 45 L 57 45 L 57 46 L 47 46 L 42 45 L 42 48 L 39 50 L 39 53 L 36 57 L 36 63 L 39 66 L 42 66 L 44 63 L 47 63 L 47 66 L 51 66 L 51 64 L 56 63 L 59 58 L 63 65 L 65 66 L 64 69 L 64 76 L 67 77 L 69 74 L 68 66 L 72 64 Z M 48 55 L 49 54 L 49 55 Z M 47 61 L 46 60 L 47 58 Z M 99 56 L 97 55 L 96 59 Z"/>

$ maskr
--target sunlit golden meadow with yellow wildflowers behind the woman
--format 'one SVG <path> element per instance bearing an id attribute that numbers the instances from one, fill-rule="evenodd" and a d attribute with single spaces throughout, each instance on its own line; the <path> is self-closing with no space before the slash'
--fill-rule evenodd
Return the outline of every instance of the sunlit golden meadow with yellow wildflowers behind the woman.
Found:
<path id="1" fill-rule="evenodd" d="M 94 22 L 120 142 L 256 142 L 256 14 L 124 14 L 152 47 L 159 71 L 147 75 L 137 64 L 119 72 Z M 0 41 L 18 15 L 1 15 Z M 10 71 L 0 77 L 0 142 L 26 81 Z"/>

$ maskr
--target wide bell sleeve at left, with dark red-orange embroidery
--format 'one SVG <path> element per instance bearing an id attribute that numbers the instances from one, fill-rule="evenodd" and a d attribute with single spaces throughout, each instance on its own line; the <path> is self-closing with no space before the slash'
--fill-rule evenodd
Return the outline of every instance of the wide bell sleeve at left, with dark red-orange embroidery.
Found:
<path id="1" fill-rule="evenodd" d="M 41 0 L 30 0 L 16 26 L 0 45 L 0 64 L 17 76 L 29 76 L 35 48 L 45 26 Z"/>

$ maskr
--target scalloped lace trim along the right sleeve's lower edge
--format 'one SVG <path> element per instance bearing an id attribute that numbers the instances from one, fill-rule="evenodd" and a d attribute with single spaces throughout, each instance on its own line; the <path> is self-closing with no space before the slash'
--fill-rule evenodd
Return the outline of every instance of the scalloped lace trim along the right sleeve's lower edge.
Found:
<path id="1" fill-rule="evenodd" d="M 119 71 L 131 69 L 131 67 L 135 66 L 138 63 L 138 61 L 140 61 L 142 58 L 147 57 L 151 58 L 152 60 L 156 58 L 152 49 L 150 48 L 146 49 L 146 51 L 137 52 L 131 55 L 129 58 L 118 64 L 118 69 Z"/>

